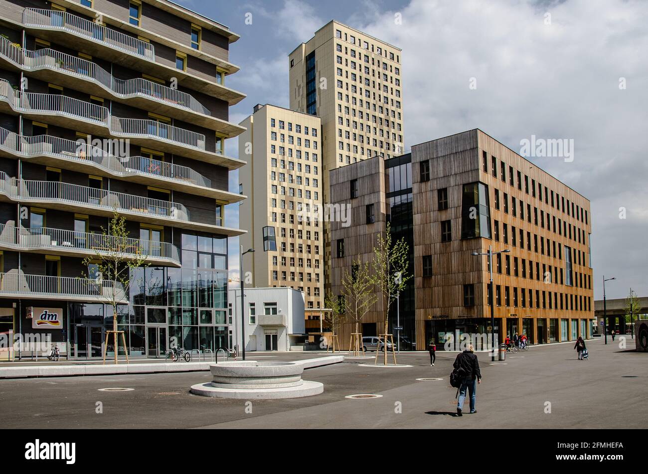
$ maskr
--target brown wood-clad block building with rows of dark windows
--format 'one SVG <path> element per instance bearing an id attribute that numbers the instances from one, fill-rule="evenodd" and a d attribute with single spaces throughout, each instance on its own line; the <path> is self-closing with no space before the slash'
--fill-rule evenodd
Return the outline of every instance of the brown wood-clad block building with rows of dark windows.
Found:
<path id="1" fill-rule="evenodd" d="M 360 166 L 367 164 L 353 168 Z M 375 233 L 391 221 L 413 242 L 411 297 L 400 302 L 406 344 L 421 348 L 435 339 L 439 347 L 457 332 L 490 332 L 488 259 L 473 255 L 489 246 L 509 250 L 493 257 L 500 341 L 515 332 L 534 344 L 592 337 L 592 224 L 581 194 L 481 130 L 418 144 L 411 155 L 352 173 L 331 173 L 332 196 L 349 200 L 357 214 L 351 227 L 332 227 L 333 281 L 356 256 L 371 259 Z M 365 335 L 376 321 L 367 315 Z"/>

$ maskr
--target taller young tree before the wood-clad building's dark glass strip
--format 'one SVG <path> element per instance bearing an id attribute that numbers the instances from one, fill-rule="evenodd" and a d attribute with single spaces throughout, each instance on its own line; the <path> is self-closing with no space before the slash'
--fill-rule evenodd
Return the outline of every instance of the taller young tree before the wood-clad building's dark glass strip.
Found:
<path id="1" fill-rule="evenodd" d="M 410 246 L 404 237 L 397 240 L 397 242 L 393 242 L 389 222 L 384 236 L 382 232 L 378 232 L 377 244 L 373 249 L 372 280 L 382 299 L 382 333 L 387 334 L 389 330 L 389 308 L 397 299 L 398 293 L 405 289 L 406 282 L 411 278 L 411 275 L 408 274 Z M 386 345 L 387 341 L 384 341 L 384 343 Z M 387 347 L 385 347 L 386 363 Z"/>

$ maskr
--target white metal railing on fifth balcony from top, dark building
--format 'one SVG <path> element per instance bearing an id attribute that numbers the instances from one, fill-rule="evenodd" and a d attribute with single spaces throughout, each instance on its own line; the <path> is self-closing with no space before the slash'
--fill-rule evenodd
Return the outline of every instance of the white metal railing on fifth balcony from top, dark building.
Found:
<path id="1" fill-rule="evenodd" d="M 0 192 L 21 201 L 59 201 L 94 209 L 125 211 L 144 216 L 189 221 L 189 211 L 180 203 L 59 181 L 10 178 L 4 172 L 0 172 Z"/>

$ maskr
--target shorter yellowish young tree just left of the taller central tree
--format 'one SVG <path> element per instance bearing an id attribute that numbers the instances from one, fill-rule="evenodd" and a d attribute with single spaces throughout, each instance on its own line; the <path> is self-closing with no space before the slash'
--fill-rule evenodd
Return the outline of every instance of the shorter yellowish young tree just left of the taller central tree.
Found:
<path id="1" fill-rule="evenodd" d="M 360 257 L 351 264 L 351 273 L 345 271 L 342 277 L 342 295 L 345 300 L 345 313 L 349 322 L 355 324 L 354 332 L 360 333 L 360 322 L 375 304 L 378 297 L 374 291 L 375 286 L 369 273 L 369 263 L 361 262 Z M 362 349 L 358 343 L 354 344 L 351 339 L 354 353 Z M 362 341 L 359 341 L 362 344 Z"/>

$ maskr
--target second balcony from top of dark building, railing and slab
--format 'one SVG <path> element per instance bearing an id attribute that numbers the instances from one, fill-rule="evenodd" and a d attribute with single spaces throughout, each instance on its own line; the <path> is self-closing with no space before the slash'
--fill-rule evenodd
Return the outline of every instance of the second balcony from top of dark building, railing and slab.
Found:
<path id="1" fill-rule="evenodd" d="M 119 102 L 219 131 L 227 137 L 245 130 L 212 117 L 211 112 L 188 93 L 143 78 L 117 79 L 96 63 L 53 49 L 30 51 L 0 38 L 0 61 L 14 69 L 30 71 L 45 82 L 72 81 L 75 89 L 87 94 L 102 96 L 108 92 Z"/>

